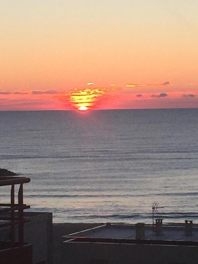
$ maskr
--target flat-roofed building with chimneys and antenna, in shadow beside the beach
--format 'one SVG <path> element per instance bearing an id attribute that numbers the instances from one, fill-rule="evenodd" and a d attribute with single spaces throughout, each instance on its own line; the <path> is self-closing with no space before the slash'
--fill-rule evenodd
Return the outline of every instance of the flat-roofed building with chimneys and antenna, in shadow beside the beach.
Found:
<path id="1" fill-rule="evenodd" d="M 154 232 L 153 232 L 154 231 Z M 62 263 L 197 264 L 198 225 L 105 224 L 64 236 Z"/>

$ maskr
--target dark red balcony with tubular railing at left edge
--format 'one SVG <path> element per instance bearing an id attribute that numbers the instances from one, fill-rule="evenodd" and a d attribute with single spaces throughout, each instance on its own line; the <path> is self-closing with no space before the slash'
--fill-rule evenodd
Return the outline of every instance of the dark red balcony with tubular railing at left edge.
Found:
<path id="1" fill-rule="evenodd" d="M 23 204 L 23 184 L 28 182 L 30 178 L 26 177 L 0 177 L 0 187 L 11 187 L 10 203 L 0 203 L 0 231 L 10 226 L 10 241 L 0 241 L 1 264 L 32 264 L 32 245 L 24 243 L 24 223 L 29 220 L 23 217 L 23 209 L 30 206 Z M 15 203 L 15 185 L 20 185 L 17 203 Z M 18 214 L 15 214 L 15 211 L 18 211 Z M 15 235 L 16 226 L 18 226 L 18 241 Z"/>

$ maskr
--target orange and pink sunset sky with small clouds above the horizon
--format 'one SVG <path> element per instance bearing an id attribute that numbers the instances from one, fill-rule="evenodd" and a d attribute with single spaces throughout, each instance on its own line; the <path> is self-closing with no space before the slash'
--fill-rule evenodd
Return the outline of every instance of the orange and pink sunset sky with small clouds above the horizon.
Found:
<path id="1" fill-rule="evenodd" d="M 198 108 L 197 0 L 0 6 L 0 110 Z"/>

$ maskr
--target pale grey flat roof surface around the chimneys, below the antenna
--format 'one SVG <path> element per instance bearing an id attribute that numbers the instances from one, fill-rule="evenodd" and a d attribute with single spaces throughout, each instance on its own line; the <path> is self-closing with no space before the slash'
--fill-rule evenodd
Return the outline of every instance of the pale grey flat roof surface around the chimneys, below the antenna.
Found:
<path id="1" fill-rule="evenodd" d="M 153 233 L 152 225 L 145 225 L 145 237 L 143 241 L 193 241 L 198 244 L 198 225 L 193 225 L 192 236 L 185 236 L 185 224 L 166 224 L 163 226 L 163 235 L 157 236 Z M 67 241 L 136 241 L 136 226 L 134 224 L 105 224 L 92 229 L 83 230 L 63 236 Z M 89 240 L 87 239 L 89 238 Z M 103 240 L 101 240 L 103 239 Z"/>

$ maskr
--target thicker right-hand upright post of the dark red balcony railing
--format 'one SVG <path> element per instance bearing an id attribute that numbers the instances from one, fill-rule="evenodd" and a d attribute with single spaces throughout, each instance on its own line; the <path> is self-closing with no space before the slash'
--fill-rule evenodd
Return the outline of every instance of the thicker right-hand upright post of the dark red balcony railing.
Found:
<path id="1" fill-rule="evenodd" d="M 23 183 L 20 184 L 18 190 L 18 243 L 19 245 L 24 244 L 24 234 L 23 234 Z"/>

